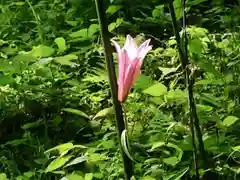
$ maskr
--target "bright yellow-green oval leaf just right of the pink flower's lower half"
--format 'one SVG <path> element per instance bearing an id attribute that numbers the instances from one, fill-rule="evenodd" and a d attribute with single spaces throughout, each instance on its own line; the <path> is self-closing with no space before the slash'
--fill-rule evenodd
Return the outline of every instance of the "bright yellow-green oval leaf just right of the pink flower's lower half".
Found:
<path id="1" fill-rule="evenodd" d="M 162 96 L 166 92 L 167 92 L 167 87 L 161 83 L 154 84 L 143 91 L 143 93 L 149 94 L 151 96 Z"/>

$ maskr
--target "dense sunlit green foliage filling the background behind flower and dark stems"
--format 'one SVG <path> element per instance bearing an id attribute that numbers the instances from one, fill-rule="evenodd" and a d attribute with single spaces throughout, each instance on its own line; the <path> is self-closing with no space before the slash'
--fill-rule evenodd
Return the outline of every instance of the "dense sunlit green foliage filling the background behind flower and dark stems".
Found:
<path id="1" fill-rule="evenodd" d="M 111 38 L 123 44 L 129 33 L 154 46 L 124 103 L 134 178 L 141 180 L 195 174 L 188 97 L 165 3 L 106 1 Z M 174 7 L 182 25 L 181 0 Z M 123 179 L 94 1 L 0 0 L 0 10 L 0 180 Z M 197 159 L 203 178 L 240 177 L 239 15 L 237 1 L 187 1 L 209 165 Z"/>

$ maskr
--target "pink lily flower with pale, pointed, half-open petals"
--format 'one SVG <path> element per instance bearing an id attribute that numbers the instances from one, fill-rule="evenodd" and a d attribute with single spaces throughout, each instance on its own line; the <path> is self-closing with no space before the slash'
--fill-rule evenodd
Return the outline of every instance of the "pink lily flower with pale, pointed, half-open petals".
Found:
<path id="1" fill-rule="evenodd" d="M 112 40 L 112 42 L 118 57 L 118 100 L 123 102 L 141 74 L 143 59 L 152 46 L 149 45 L 150 39 L 148 39 L 138 47 L 136 40 L 130 35 L 127 35 L 122 49 L 116 41 Z"/>

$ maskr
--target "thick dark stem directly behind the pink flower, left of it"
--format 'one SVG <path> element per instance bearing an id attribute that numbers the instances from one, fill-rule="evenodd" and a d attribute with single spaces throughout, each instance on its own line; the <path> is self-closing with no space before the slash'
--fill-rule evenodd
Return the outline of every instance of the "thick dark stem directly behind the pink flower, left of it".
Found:
<path id="1" fill-rule="evenodd" d="M 114 68 L 114 62 L 111 52 L 111 44 L 110 44 L 110 38 L 109 38 L 109 32 L 108 32 L 108 23 L 107 23 L 107 17 L 105 13 L 104 3 L 103 0 L 95 0 L 96 9 L 97 9 L 97 15 L 100 25 L 100 31 L 102 36 L 102 43 L 104 46 L 104 53 L 105 53 L 105 60 L 107 65 L 107 71 L 109 76 L 109 84 L 110 89 L 112 93 L 112 100 L 113 105 L 116 113 L 116 128 L 118 132 L 118 139 L 119 144 L 121 141 L 121 134 L 122 131 L 125 129 L 125 123 L 124 123 L 124 117 L 123 117 L 123 110 L 121 103 L 118 101 L 117 98 L 117 79 L 116 79 L 116 73 Z M 124 166 L 124 173 L 126 180 L 130 180 L 133 175 L 133 165 L 132 161 L 127 157 L 127 155 L 124 153 L 122 147 L 120 146 L 121 154 L 123 158 L 123 166 Z"/>

